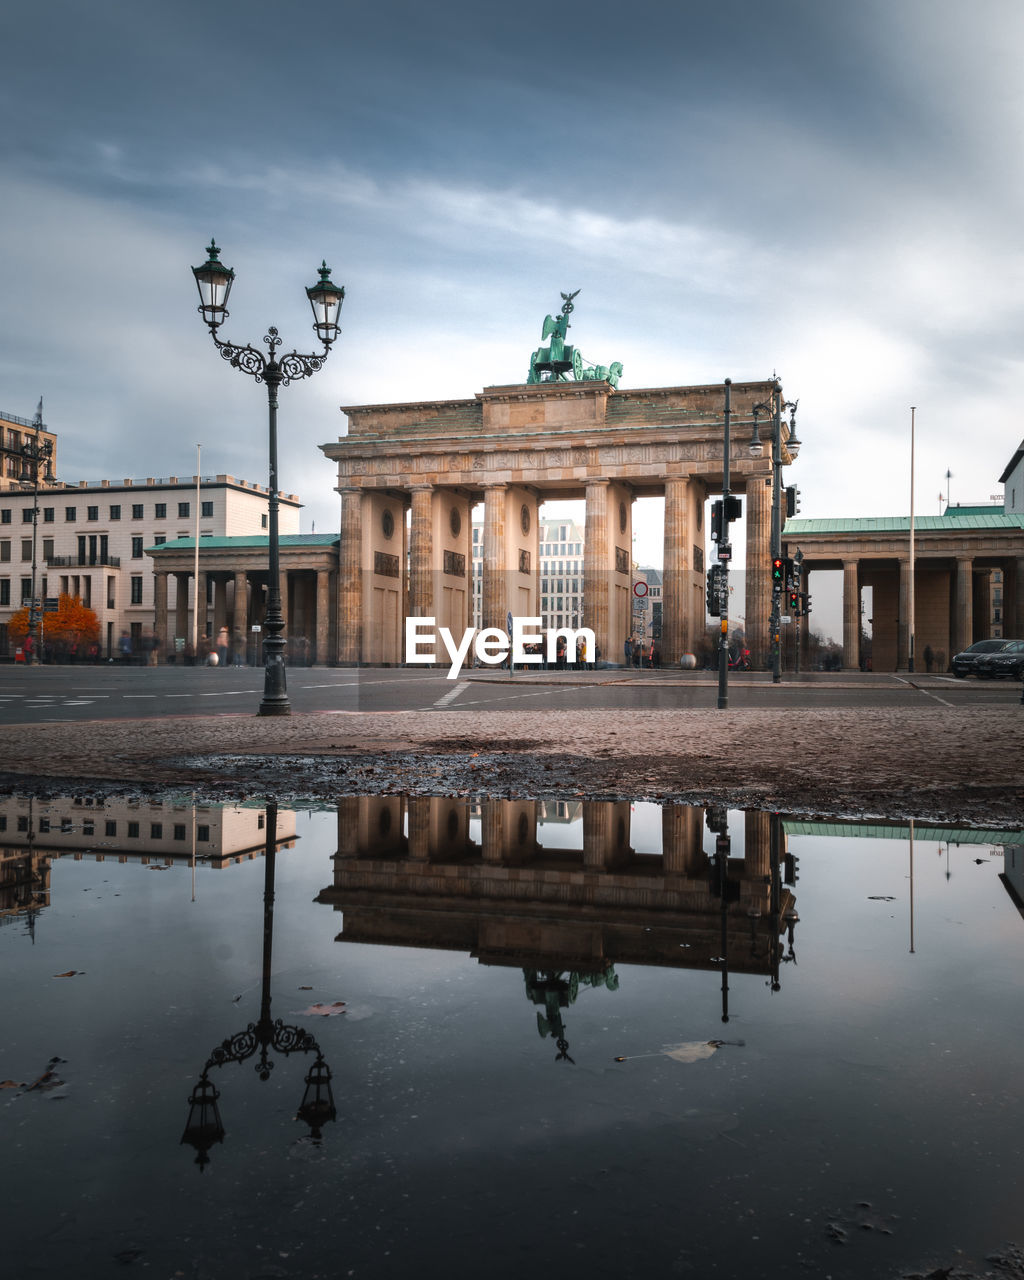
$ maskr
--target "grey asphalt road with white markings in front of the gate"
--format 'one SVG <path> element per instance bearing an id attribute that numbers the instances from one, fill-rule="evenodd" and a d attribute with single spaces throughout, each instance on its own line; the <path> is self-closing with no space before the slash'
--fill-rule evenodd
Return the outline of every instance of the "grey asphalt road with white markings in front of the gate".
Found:
<path id="1" fill-rule="evenodd" d="M 261 668 L 234 667 L 5 667 L 0 668 L 0 726 L 90 719 L 152 719 L 168 716 L 255 713 L 262 698 Z M 717 677 L 709 672 L 602 671 L 595 673 L 468 672 L 451 681 L 422 668 L 291 668 L 294 712 L 584 710 L 714 708 Z M 951 676 L 732 675 L 730 709 L 996 708 L 1020 701 L 1011 681 Z"/>

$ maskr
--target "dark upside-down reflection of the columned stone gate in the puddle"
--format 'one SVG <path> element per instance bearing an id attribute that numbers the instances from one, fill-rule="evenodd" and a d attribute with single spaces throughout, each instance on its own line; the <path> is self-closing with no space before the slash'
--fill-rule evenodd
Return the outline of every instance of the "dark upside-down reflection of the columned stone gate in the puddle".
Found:
<path id="1" fill-rule="evenodd" d="M 479 805 L 479 842 L 471 813 Z M 483 964 L 599 974 L 608 964 L 777 973 L 781 823 L 745 817 L 726 874 L 704 810 L 667 806 L 662 851 L 630 844 L 630 804 L 582 801 L 581 847 L 544 847 L 532 800 L 355 797 L 338 804 L 339 941 L 463 950 Z M 474 823 L 475 826 L 475 823 Z M 543 832 L 541 832 L 543 833 Z"/>

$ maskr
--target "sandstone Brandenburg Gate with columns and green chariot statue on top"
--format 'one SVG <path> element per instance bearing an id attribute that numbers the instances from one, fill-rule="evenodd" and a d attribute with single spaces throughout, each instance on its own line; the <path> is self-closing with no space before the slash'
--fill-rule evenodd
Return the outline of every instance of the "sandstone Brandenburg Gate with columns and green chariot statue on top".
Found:
<path id="1" fill-rule="evenodd" d="M 586 365 L 564 342 L 572 297 L 544 321 L 550 346 L 532 353 L 525 383 L 472 399 L 343 408 L 348 435 L 321 445 L 338 465 L 342 498 L 340 664 L 403 662 L 406 617 L 433 617 L 456 637 L 472 626 L 471 512 L 480 502 L 484 627 L 504 631 L 509 613 L 540 617 L 538 515 L 557 499 L 585 500 L 581 623 L 599 658 L 621 662 L 632 616 L 632 503 L 650 495 L 664 497 L 662 662 L 694 652 L 705 628 L 704 502 L 723 479 L 723 387 L 621 390 L 621 365 Z M 772 462 L 751 458 L 749 445 L 754 406 L 774 389 L 769 380 L 732 384 L 730 488 L 745 494 L 755 654 L 768 650 Z M 783 422 L 783 465 L 786 440 Z"/>

